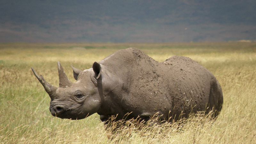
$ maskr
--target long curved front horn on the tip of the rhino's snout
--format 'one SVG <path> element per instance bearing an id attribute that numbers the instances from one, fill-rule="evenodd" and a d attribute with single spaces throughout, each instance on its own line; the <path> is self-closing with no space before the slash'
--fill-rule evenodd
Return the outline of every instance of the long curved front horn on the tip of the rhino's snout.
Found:
<path id="1" fill-rule="evenodd" d="M 53 86 L 52 84 L 47 83 L 44 80 L 44 77 L 42 75 L 38 76 L 38 74 L 36 73 L 36 71 L 34 70 L 34 68 L 31 68 L 33 73 L 35 74 L 36 78 L 39 80 L 39 82 L 44 86 L 45 91 L 49 94 L 49 96 L 52 98 L 53 93 L 57 90 L 57 88 L 55 86 Z"/>

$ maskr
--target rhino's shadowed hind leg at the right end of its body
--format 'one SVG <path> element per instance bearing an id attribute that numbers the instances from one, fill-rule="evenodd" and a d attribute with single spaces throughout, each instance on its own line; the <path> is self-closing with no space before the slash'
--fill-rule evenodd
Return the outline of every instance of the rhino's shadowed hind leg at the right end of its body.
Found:
<path id="1" fill-rule="evenodd" d="M 208 114 L 211 110 L 213 112 L 213 117 L 217 117 L 220 113 L 223 104 L 223 94 L 219 82 L 213 78 L 211 80 L 211 90 L 209 95 L 208 108 L 206 113 Z"/>

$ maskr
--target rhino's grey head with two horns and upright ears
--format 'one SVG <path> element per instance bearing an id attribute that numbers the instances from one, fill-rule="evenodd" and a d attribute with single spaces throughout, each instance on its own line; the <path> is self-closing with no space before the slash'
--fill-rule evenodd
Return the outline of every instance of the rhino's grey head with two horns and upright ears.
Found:
<path id="1" fill-rule="evenodd" d="M 76 120 L 99 110 L 102 103 L 97 87 L 97 80 L 101 78 L 99 63 L 94 62 L 92 68 L 84 71 L 72 67 L 77 81 L 71 83 L 58 62 L 59 87 L 47 83 L 42 75 L 39 76 L 33 68 L 31 69 L 51 98 L 50 111 L 53 116 Z"/>

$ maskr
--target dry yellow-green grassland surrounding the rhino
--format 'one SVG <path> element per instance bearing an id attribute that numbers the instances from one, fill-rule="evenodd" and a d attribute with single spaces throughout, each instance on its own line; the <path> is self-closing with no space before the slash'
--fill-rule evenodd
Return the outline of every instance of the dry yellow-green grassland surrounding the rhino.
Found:
<path id="1" fill-rule="evenodd" d="M 82 120 L 51 115 L 50 98 L 31 67 L 58 86 L 57 61 L 75 82 L 70 65 L 88 69 L 94 61 L 129 47 L 159 62 L 186 56 L 210 70 L 224 96 L 218 118 L 198 114 L 140 130 L 136 123 L 127 124 L 110 133 L 98 114 Z M 0 143 L 255 143 L 255 93 L 256 43 L 0 44 Z"/>

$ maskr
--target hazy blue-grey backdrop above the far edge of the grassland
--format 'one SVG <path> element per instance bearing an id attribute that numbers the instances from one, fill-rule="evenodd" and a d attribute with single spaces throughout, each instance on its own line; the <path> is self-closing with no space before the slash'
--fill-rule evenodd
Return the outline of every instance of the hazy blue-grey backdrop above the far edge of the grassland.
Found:
<path id="1" fill-rule="evenodd" d="M 256 0 L 1 0 L 0 42 L 256 40 Z"/>

